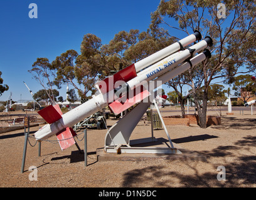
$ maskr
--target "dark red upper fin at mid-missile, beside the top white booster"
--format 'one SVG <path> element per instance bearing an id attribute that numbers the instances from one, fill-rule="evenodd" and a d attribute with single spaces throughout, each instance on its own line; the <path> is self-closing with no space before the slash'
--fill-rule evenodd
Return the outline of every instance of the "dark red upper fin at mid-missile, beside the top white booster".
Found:
<path id="1" fill-rule="evenodd" d="M 128 66 L 127 68 L 124 68 L 119 72 L 115 73 L 113 76 L 110 76 L 100 81 L 98 85 L 99 85 L 100 91 L 103 94 L 105 94 L 111 91 L 112 89 L 114 89 L 114 84 L 117 81 L 127 82 L 135 78 L 136 76 L 137 76 L 136 69 L 134 64 L 132 64 L 131 66 Z"/>

